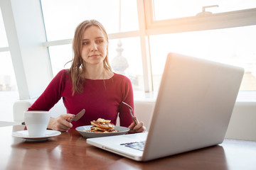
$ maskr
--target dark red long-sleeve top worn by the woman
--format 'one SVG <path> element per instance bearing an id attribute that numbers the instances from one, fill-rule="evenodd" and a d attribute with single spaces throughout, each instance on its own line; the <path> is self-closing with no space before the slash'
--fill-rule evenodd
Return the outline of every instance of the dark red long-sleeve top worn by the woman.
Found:
<path id="1" fill-rule="evenodd" d="M 74 95 L 72 86 L 68 69 L 61 70 L 28 111 L 49 111 L 63 98 L 67 113 L 77 114 L 85 108 L 85 115 L 72 122 L 73 128 L 90 125 L 90 121 L 97 118 L 111 120 L 116 125 L 118 113 L 121 126 L 128 127 L 132 123 L 129 108 L 122 103 L 134 108 L 132 83 L 127 77 L 114 73 L 110 79 L 85 79 L 83 92 Z"/>

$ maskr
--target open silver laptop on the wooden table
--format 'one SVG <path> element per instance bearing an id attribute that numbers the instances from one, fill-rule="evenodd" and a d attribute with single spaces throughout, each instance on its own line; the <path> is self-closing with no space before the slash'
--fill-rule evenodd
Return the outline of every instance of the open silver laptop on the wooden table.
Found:
<path id="1" fill-rule="evenodd" d="M 243 73 L 240 67 L 169 53 L 154 111 L 145 113 L 151 114 L 148 132 L 90 138 L 87 143 L 136 161 L 218 145 Z"/>

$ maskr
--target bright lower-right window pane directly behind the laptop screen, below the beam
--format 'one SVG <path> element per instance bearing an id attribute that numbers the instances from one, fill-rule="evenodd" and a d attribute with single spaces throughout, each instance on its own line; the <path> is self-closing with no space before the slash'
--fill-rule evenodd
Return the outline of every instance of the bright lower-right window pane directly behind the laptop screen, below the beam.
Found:
<path id="1" fill-rule="evenodd" d="M 256 26 L 151 35 L 150 42 L 154 89 L 159 88 L 166 54 L 177 52 L 243 67 L 240 91 L 256 91 Z"/>

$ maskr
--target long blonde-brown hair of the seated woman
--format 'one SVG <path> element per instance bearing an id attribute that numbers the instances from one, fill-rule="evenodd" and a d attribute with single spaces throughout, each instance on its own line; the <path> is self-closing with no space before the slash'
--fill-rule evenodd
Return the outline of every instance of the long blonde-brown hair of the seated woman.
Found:
<path id="1" fill-rule="evenodd" d="M 85 79 L 82 79 L 81 75 L 83 72 L 85 72 L 85 64 L 82 60 L 82 38 L 84 36 L 85 30 L 89 28 L 90 26 L 97 26 L 102 30 L 102 33 L 105 35 L 105 38 L 107 40 L 107 55 L 105 57 L 105 60 L 103 60 L 103 67 L 105 70 L 110 70 L 112 72 L 112 68 L 110 67 L 110 63 L 108 60 L 108 36 L 105 28 L 102 26 L 102 24 L 99 21 L 96 20 L 87 20 L 83 21 L 78 25 L 78 27 L 75 29 L 75 35 L 73 38 L 73 60 L 72 65 L 69 69 L 70 77 L 73 84 L 73 95 L 75 92 L 82 93 L 83 91 L 83 85 Z"/>

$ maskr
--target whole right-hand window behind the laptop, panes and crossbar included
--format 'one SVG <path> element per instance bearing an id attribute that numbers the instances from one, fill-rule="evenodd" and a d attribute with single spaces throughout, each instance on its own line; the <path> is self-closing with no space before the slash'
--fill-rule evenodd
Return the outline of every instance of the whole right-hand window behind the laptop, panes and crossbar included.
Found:
<path id="1" fill-rule="evenodd" d="M 178 52 L 244 67 L 240 91 L 256 91 L 256 1 L 151 0 L 146 6 L 154 90 L 166 54 Z"/>

